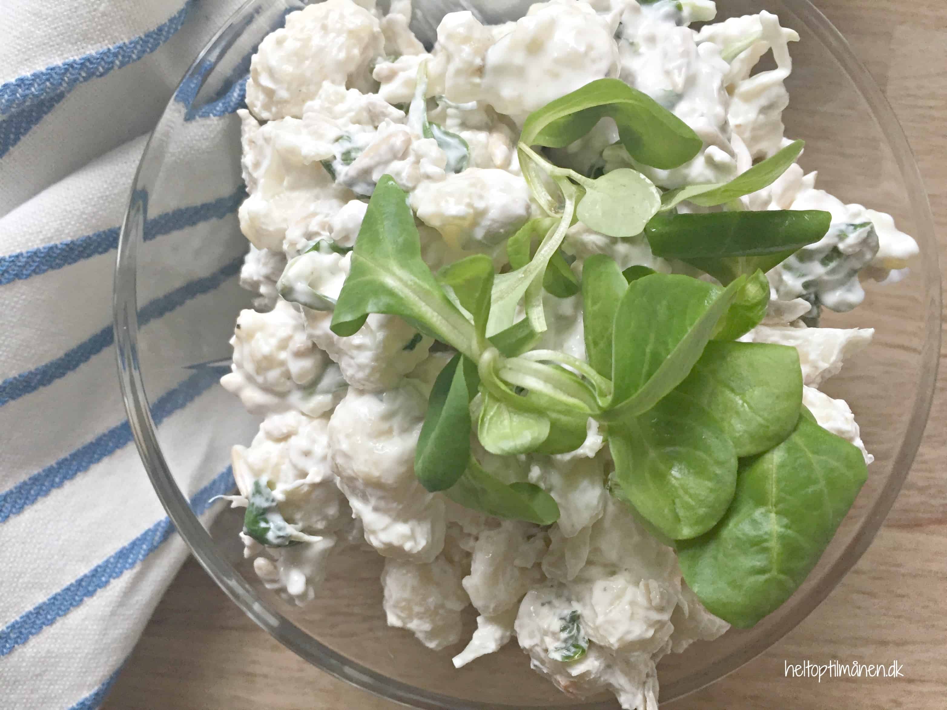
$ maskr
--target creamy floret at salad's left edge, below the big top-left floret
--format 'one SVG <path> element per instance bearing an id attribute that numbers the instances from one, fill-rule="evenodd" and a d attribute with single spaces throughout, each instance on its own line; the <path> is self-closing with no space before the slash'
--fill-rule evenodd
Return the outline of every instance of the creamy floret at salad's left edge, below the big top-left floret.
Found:
<path id="1" fill-rule="evenodd" d="M 290 250 L 298 251 L 313 220 L 320 223 L 355 196 L 336 185 L 320 165 L 319 161 L 332 153 L 327 154 L 303 121 L 284 118 L 259 126 L 253 116 L 239 113 L 249 195 L 238 211 L 241 232 L 259 249 L 278 252 L 287 231 L 293 229 Z"/>

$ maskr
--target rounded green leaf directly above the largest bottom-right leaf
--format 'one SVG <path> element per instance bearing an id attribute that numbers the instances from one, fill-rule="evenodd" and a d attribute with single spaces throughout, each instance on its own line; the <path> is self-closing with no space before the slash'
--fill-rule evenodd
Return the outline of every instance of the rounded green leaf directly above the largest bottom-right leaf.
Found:
<path id="1" fill-rule="evenodd" d="M 791 346 L 711 341 L 675 392 L 717 419 L 738 456 L 762 453 L 790 435 L 799 418 L 799 353 Z"/>

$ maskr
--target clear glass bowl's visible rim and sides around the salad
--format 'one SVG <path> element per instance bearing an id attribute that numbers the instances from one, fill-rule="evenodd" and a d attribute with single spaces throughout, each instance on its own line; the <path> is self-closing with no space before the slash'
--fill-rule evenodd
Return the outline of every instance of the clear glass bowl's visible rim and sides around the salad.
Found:
<path id="1" fill-rule="evenodd" d="M 230 357 L 234 320 L 250 300 L 237 284 L 247 242 L 233 214 L 241 200 L 240 130 L 230 112 L 241 101 L 250 55 L 282 25 L 286 12 L 301 5 L 251 0 L 243 6 L 182 80 L 135 177 L 116 264 L 116 348 L 128 417 L 154 489 L 196 558 L 243 612 L 338 678 L 419 708 L 615 708 L 604 697 L 577 703 L 564 696 L 529 670 L 515 643 L 455 670 L 453 649 L 435 653 L 410 633 L 389 629 L 379 582 L 382 558 L 374 553 L 338 559 L 316 600 L 298 609 L 269 593 L 242 559 L 241 511 L 223 511 L 214 524 L 202 522 L 210 497 L 233 485 L 226 468 L 229 447 L 248 443 L 259 423 L 216 383 Z M 432 37 L 443 13 L 458 6 L 473 5 L 496 21 L 518 16 L 528 3 L 416 0 L 419 5 L 426 10 L 415 28 Z M 831 396 L 849 401 L 876 456 L 855 506 L 806 583 L 777 612 L 752 630 L 731 630 L 662 661 L 666 701 L 723 677 L 776 643 L 862 556 L 917 452 L 938 365 L 940 275 L 930 208 L 882 93 L 808 0 L 719 0 L 718 6 L 722 18 L 768 9 L 799 32 L 784 119 L 787 135 L 807 141 L 803 167 L 818 169 L 819 186 L 844 202 L 890 212 L 918 240 L 922 257 L 906 280 L 867 283 L 861 308 L 825 319 L 831 327 L 877 328 L 872 346 L 826 387 Z M 195 135 L 204 150 L 193 150 Z M 215 219 L 195 227 L 200 239 L 191 232 L 184 233 L 186 239 L 171 234 L 152 240 L 162 231 L 152 228 L 155 222 L 169 214 L 182 223 Z M 175 425 L 175 402 L 191 399 L 205 421 L 199 431 Z M 203 446 L 193 446 L 195 436 Z M 185 440 L 188 447 L 177 446 Z M 473 614 L 467 623 L 472 630 Z"/>

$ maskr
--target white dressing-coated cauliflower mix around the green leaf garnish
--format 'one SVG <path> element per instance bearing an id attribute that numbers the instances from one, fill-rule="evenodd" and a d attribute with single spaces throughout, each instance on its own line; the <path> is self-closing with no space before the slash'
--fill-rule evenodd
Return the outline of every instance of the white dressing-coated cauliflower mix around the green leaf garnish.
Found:
<path id="1" fill-rule="evenodd" d="M 632 166 L 666 188 L 724 182 L 788 142 L 781 112 L 798 37 L 767 12 L 699 32 L 709 0 L 552 0 L 516 23 L 484 26 L 470 12 L 446 15 L 428 53 L 408 28 L 410 0 L 387 15 L 369 0 L 328 0 L 287 15 L 251 63 L 240 112 L 241 166 L 249 197 L 241 229 L 252 246 L 241 285 L 258 295 L 242 311 L 223 386 L 264 417 L 248 447 L 233 451 L 245 506 L 257 484 L 277 502 L 299 544 L 273 547 L 241 534 L 263 583 L 303 604 L 318 594 L 331 559 L 348 544 L 385 558 L 388 624 L 428 648 L 461 640 L 461 613 L 477 629 L 459 667 L 515 637 L 537 671 L 582 697 L 611 690 L 622 707 L 656 710 L 655 665 L 727 624 L 683 583 L 673 551 L 612 498 L 612 469 L 599 425 L 557 456 L 495 458 L 506 482 L 528 481 L 560 507 L 556 524 L 500 521 L 420 486 L 413 465 L 427 398 L 450 355 L 401 318 L 369 315 L 355 335 L 331 332 L 331 307 L 348 276 L 368 196 L 384 174 L 409 193 L 421 254 L 432 269 L 472 253 L 505 263 L 503 241 L 541 214 L 517 162 L 527 114 L 592 80 L 618 77 L 684 120 L 704 141 L 670 170 L 635 165 L 602 119 L 555 159 L 587 172 Z M 776 68 L 751 73 L 772 52 Z M 418 86 L 420 67 L 426 90 Z M 416 92 L 418 97 L 416 98 Z M 408 104 L 415 99 L 409 118 Z M 455 139 L 424 137 L 424 116 Z M 443 134 L 441 134 L 443 137 Z M 804 403 L 819 424 L 857 445 L 848 405 L 817 387 L 867 346 L 870 329 L 806 328 L 813 304 L 849 309 L 864 296 L 858 272 L 903 275 L 917 245 L 884 213 L 842 204 L 798 166 L 742 198 L 746 209 L 824 209 L 825 239 L 769 274 L 763 324 L 743 340 L 795 346 Z M 684 203 L 682 211 L 697 209 Z M 308 251 L 316 243 L 322 246 Z M 680 265 L 654 257 L 643 238 L 618 240 L 572 226 L 563 243 L 581 275 L 605 254 L 622 269 Z M 290 303 L 290 299 L 293 303 Z M 542 346 L 585 357 L 581 295 L 546 293 Z M 474 400 L 476 404 L 477 400 Z"/>

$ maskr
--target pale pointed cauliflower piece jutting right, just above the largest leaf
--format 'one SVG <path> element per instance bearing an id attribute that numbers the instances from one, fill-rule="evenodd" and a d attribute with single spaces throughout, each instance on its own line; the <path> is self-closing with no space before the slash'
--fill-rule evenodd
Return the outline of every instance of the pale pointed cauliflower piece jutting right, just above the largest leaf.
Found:
<path id="1" fill-rule="evenodd" d="M 748 343 L 795 347 L 802 364 L 802 381 L 817 387 L 838 374 L 847 358 L 864 350 L 874 334 L 874 328 L 757 326 L 742 339 Z"/>

